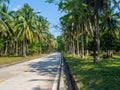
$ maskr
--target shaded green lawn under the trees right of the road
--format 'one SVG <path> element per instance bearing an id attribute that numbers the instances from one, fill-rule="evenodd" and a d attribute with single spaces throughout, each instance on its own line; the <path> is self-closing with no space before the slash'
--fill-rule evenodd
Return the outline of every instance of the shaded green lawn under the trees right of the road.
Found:
<path id="1" fill-rule="evenodd" d="M 97 63 L 90 56 L 65 58 L 81 90 L 120 90 L 120 56 Z"/>

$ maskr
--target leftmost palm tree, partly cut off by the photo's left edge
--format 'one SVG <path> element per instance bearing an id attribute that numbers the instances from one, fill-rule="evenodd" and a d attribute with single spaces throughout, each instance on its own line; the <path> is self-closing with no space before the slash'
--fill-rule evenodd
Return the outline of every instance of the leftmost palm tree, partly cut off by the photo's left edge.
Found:
<path id="1" fill-rule="evenodd" d="M 3 4 L 2 7 L 0 8 L 0 23 L 2 24 L 2 26 L 4 27 L 4 29 L 1 29 L 1 36 L 6 39 L 5 40 L 5 52 L 4 55 L 7 54 L 8 51 L 8 42 L 10 42 L 9 40 L 12 39 L 12 35 L 13 30 L 11 28 L 11 25 L 9 24 L 9 22 L 11 21 L 11 16 L 8 13 L 8 7 L 6 6 L 6 4 Z M 2 31 L 3 30 L 3 31 Z M 9 44 L 11 45 L 11 44 Z"/>

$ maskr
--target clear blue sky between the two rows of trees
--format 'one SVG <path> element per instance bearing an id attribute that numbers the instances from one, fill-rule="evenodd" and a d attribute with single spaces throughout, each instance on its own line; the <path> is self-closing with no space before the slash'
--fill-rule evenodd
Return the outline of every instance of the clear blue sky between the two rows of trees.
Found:
<path id="1" fill-rule="evenodd" d="M 54 25 L 59 26 L 59 18 L 62 13 L 58 10 L 58 6 L 50 3 L 46 3 L 45 0 L 10 0 L 9 11 L 18 10 L 25 3 L 28 3 L 34 12 L 40 12 L 40 15 L 47 18 L 50 24 L 50 32 L 57 37 L 61 34 L 61 30 L 53 28 Z"/>

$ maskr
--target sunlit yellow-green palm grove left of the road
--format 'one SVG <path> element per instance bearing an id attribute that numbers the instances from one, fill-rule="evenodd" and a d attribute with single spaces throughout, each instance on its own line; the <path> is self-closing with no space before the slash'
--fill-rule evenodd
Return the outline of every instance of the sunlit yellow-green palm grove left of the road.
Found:
<path id="1" fill-rule="evenodd" d="M 0 0 L 0 56 L 20 56 L 55 51 L 57 42 L 49 22 L 28 5 L 8 12 L 9 0 Z"/>

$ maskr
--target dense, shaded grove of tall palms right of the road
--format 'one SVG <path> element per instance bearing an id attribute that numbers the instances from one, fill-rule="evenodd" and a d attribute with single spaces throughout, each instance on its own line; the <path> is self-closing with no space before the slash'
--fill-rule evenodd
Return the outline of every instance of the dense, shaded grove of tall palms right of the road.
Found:
<path id="1" fill-rule="evenodd" d="M 58 5 L 65 13 L 60 19 L 59 50 L 82 58 L 93 55 L 94 62 L 103 52 L 103 57 L 120 52 L 119 0 L 60 0 Z"/>

